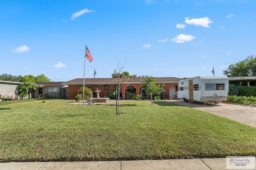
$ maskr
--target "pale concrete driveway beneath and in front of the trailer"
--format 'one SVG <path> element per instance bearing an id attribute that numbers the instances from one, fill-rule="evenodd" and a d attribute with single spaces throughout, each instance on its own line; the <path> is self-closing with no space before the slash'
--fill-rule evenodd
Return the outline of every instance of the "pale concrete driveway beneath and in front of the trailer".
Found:
<path id="1" fill-rule="evenodd" d="M 202 104 L 198 102 L 186 103 L 183 100 L 168 100 L 168 102 L 207 111 L 215 115 L 220 115 L 222 117 L 256 127 L 256 106 L 247 106 L 228 102 L 207 104 L 207 106 L 202 106 Z"/>

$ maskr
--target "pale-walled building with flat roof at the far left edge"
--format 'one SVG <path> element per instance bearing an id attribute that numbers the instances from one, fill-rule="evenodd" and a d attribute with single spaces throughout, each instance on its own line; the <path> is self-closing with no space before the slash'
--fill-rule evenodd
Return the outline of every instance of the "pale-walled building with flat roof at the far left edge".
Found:
<path id="1" fill-rule="evenodd" d="M 10 82 L 0 80 L 0 94 L 12 96 L 18 96 L 16 93 L 16 87 L 22 84 L 22 82 Z"/>

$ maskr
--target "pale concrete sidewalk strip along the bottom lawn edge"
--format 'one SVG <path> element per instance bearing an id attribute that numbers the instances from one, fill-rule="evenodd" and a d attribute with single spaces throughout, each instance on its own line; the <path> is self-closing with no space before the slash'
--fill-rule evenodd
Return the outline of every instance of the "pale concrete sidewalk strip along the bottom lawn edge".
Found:
<path id="1" fill-rule="evenodd" d="M 0 170 L 226 170 L 226 158 L 94 162 L 5 162 Z"/>

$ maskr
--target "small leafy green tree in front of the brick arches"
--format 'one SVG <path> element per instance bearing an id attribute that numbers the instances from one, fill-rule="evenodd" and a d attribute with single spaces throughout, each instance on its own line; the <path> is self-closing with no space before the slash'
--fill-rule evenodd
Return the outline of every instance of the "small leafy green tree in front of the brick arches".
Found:
<path id="1" fill-rule="evenodd" d="M 164 88 L 163 85 L 156 85 L 156 80 L 152 76 L 145 76 L 144 81 L 141 80 L 142 90 L 151 96 L 151 104 L 153 105 L 153 95 L 161 94 L 161 90 Z"/>

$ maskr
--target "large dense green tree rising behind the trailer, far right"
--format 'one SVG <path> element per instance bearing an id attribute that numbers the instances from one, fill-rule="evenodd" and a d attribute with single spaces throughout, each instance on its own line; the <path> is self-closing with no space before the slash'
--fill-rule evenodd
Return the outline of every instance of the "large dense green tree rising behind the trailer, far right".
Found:
<path id="1" fill-rule="evenodd" d="M 256 76 L 256 56 L 248 56 L 243 61 L 230 64 L 223 74 L 229 77 Z"/>

